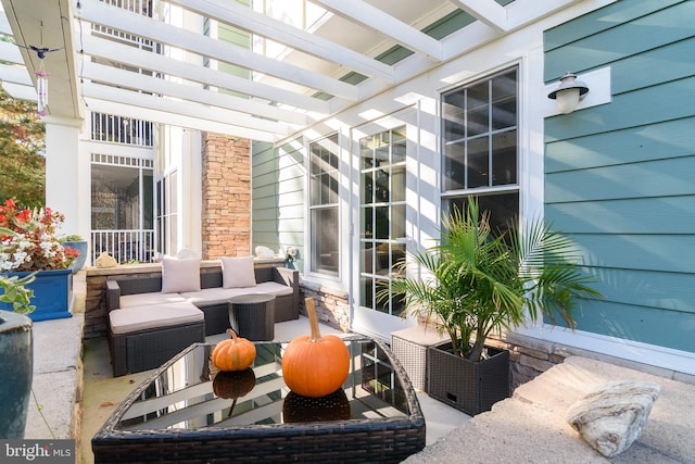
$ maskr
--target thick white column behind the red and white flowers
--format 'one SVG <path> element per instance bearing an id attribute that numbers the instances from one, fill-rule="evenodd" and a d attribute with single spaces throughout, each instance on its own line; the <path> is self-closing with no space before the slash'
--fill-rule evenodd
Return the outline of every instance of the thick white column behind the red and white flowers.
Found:
<path id="1" fill-rule="evenodd" d="M 46 206 L 65 215 L 61 235 L 89 239 L 89 153 L 79 151 L 83 120 L 45 117 Z"/>

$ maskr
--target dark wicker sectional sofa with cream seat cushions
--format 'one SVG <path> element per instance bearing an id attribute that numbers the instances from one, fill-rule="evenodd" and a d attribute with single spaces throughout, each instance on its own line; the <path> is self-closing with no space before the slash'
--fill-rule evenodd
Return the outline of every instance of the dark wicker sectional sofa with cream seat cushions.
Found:
<path id="1" fill-rule="evenodd" d="M 256 286 L 224 288 L 222 271 L 200 273 L 200 291 L 163 293 L 162 277 L 106 280 L 109 344 L 114 377 L 159 367 L 184 348 L 229 328 L 227 301 L 275 294 L 275 322 L 299 317 L 299 272 L 256 267 Z"/>

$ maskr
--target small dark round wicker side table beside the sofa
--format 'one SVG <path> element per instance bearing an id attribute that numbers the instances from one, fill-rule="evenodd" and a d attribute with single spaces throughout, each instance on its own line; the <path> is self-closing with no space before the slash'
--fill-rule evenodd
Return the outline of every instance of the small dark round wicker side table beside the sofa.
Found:
<path id="1" fill-rule="evenodd" d="M 228 302 L 229 326 L 239 337 L 253 341 L 275 338 L 275 296 L 249 293 Z"/>

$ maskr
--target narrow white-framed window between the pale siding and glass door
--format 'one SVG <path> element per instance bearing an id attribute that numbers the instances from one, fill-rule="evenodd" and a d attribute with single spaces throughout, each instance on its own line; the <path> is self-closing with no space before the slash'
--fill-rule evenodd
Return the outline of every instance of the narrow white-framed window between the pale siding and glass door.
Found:
<path id="1" fill-rule="evenodd" d="M 311 271 L 338 276 L 340 264 L 338 135 L 309 145 Z"/>

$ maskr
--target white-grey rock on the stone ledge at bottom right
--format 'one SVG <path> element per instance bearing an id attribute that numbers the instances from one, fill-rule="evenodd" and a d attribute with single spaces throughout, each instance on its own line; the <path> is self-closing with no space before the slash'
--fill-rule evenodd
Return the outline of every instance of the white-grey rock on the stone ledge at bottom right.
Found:
<path id="1" fill-rule="evenodd" d="M 652 381 L 610 381 L 572 404 L 567 421 L 596 451 L 612 457 L 640 438 L 660 390 Z"/>

